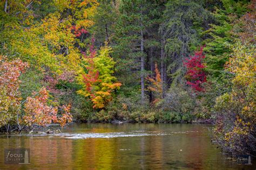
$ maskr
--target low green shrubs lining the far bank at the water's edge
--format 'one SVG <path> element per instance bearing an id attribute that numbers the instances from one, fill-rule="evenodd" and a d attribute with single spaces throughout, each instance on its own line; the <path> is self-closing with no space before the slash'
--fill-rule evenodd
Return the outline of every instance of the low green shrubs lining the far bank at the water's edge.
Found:
<path id="1" fill-rule="evenodd" d="M 196 114 L 192 111 L 163 111 L 152 107 L 118 108 L 120 105 L 109 105 L 110 108 L 95 112 L 79 112 L 73 114 L 77 122 L 127 121 L 132 123 L 213 123 L 208 115 Z"/>

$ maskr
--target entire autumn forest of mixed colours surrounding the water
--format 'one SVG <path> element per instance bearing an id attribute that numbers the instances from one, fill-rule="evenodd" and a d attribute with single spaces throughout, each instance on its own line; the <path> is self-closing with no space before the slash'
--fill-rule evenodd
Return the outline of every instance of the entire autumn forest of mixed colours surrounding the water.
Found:
<path id="1" fill-rule="evenodd" d="M 212 123 L 256 153 L 255 3 L 3 0 L 0 127 Z"/>

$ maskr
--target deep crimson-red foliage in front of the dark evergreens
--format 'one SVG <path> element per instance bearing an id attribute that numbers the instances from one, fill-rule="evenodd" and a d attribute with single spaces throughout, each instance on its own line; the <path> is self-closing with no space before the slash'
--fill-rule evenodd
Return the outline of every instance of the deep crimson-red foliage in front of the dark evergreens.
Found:
<path id="1" fill-rule="evenodd" d="M 202 84 L 206 82 L 206 74 L 203 70 L 205 66 L 202 61 L 204 58 L 203 47 L 200 47 L 200 51 L 195 52 L 194 56 L 190 56 L 190 58 L 185 59 L 183 62 L 184 66 L 187 68 L 185 75 L 187 84 L 195 91 L 204 91 L 202 87 Z"/>

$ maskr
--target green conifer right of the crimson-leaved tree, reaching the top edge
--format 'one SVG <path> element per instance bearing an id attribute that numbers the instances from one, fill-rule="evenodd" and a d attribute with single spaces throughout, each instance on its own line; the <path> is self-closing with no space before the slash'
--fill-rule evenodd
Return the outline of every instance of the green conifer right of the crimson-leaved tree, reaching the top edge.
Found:
<path id="1" fill-rule="evenodd" d="M 232 33 L 234 21 L 246 12 L 249 1 L 221 0 L 220 2 L 223 6 L 213 11 L 214 23 L 210 24 L 211 29 L 203 32 L 209 36 L 204 40 L 206 44 L 204 51 L 206 52 L 206 71 L 212 79 L 221 77 L 223 73 L 221 71 L 225 69 L 224 65 L 232 52 L 229 45 L 232 45 L 235 39 Z"/>

